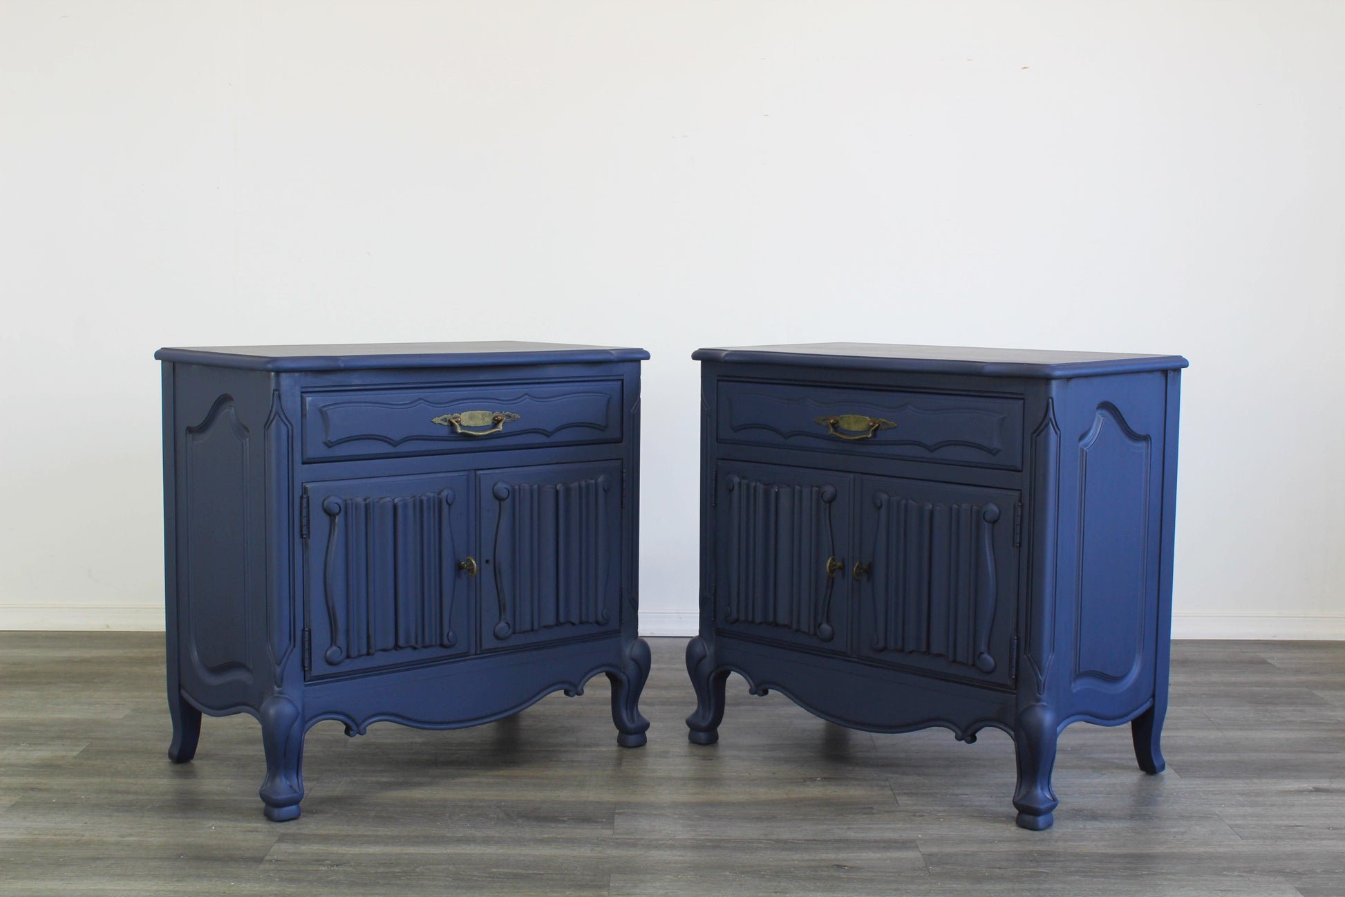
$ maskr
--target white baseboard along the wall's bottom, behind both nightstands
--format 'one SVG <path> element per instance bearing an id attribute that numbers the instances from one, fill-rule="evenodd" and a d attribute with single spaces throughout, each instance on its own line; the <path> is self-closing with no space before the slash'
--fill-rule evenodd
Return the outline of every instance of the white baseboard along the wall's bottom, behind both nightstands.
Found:
<path id="1" fill-rule="evenodd" d="M 642 636 L 690 638 L 695 611 L 646 610 Z M 0 602 L 0 630 L 163 632 L 163 605 L 20 605 Z M 1345 614 L 1173 614 L 1173 638 L 1345 641 Z"/>

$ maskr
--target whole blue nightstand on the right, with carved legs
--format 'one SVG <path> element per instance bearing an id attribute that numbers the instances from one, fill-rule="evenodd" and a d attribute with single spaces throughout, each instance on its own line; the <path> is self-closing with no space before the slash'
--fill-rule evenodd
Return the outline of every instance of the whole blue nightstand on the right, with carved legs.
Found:
<path id="1" fill-rule="evenodd" d="M 718 738 L 732 671 L 843 726 L 1009 733 L 1025 828 L 1053 822 L 1073 722 L 1131 723 L 1141 769 L 1163 769 L 1185 358 L 850 343 L 694 357 L 693 742 Z M 863 424 L 878 418 L 892 426 Z"/>

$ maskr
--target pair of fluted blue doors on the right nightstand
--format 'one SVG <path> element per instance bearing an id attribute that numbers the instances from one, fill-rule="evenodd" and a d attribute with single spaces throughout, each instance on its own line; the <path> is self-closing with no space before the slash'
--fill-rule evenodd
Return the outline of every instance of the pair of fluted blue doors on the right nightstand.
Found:
<path id="1" fill-rule="evenodd" d="M 720 462 L 717 626 L 1007 684 L 1017 492 Z"/>

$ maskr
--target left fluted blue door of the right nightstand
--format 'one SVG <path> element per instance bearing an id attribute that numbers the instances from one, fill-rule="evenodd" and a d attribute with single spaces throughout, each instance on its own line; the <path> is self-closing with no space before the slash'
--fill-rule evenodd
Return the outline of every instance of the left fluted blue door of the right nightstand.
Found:
<path id="1" fill-rule="evenodd" d="M 716 489 L 718 626 L 845 652 L 853 478 L 725 462 Z"/>

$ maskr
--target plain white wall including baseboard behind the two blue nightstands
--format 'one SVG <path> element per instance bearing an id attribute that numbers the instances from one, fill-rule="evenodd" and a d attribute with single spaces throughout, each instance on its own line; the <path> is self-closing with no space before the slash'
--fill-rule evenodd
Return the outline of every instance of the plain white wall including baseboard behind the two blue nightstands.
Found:
<path id="1" fill-rule="evenodd" d="M 160 345 L 1176 352 L 1178 636 L 1345 637 L 1345 4 L 0 0 L 0 628 L 161 626 Z"/>

